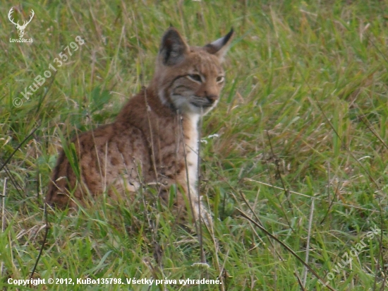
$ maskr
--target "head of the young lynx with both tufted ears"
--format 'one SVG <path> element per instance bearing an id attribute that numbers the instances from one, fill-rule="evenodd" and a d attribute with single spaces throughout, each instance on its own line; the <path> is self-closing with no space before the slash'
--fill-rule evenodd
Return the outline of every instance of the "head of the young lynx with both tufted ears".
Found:
<path id="1" fill-rule="evenodd" d="M 182 114 L 205 114 L 214 108 L 224 87 L 221 63 L 233 35 L 231 29 L 204 47 L 190 47 L 175 28 L 166 30 L 153 80 L 162 103 Z"/>

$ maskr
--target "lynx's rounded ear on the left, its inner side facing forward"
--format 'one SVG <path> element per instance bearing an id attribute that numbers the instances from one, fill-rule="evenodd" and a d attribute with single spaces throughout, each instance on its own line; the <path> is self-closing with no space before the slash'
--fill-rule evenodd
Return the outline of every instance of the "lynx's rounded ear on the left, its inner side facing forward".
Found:
<path id="1" fill-rule="evenodd" d="M 162 37 L 159 48 L 159 56 L 165 66 L 174 66 L 182 61 L 188 52 L 188 45 L 182 39 L 178 30 L 170 27 Z"/>

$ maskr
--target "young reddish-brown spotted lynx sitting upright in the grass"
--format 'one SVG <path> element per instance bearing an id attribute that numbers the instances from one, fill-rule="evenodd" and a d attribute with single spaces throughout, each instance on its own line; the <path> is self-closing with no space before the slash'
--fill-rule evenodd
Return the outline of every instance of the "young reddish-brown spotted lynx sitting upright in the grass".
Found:
<path id="1" fill-rule="evenodd" d="M 75 199 L 83 203 L 104 191 L 115 197 L 155 182 L 166 199 L 176 184 L 174 206 L 185 210 L 189 201 L 193 217 L 199 219 L 201 208 L 208 221 L 196 187 L 198 121 L 217 105 L 221 63 L 233 35 L 231 30 L 205 47 L 189 47 L 175 28 L 166 30 L 150 86 L 126 103 L 114 123 L 75 136 L 70 156 L 61 151 L 46 202 L 75 208 Z"/>

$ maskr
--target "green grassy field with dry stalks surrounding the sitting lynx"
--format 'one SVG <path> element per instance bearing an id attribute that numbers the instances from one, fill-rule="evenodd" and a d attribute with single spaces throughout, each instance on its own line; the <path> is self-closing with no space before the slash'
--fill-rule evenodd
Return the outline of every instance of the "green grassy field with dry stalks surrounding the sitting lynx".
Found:
<path id="1" fill-rule="evenodd" d="M 0 165 L 36 131 L 0 171 L 0 287 L 329 290 L 319 275 L 332 290 L 387 290 L 387 6 L 1 1 Z M 32 43 L 10 42 L 18 38 L 7 17 L 12 7 L 20 23 L 35 11 L 23 36 Z M 46 284 L 14 285 L 30 278 L 37 260 L 43 198 L 61 144 L 76 131 L 113 121 L 147 85 L 170 24 L 190 44 L 236 30 L 222 100 L 202 128 L 201 191 L 214 229 L 203 227 L 201 245 L 193 225 L 179 226 L 169 209 L 141 193 L 135 203 L 50 211 L 34 275 Z M 68 60 L 59 66 L 61 52 Z M 33 85 L 42 83 L 39 76 L 45 83 Z M 155 281 L 82 285 L 77 278 Z M 217 278 L 221 284 L 179 283 Z"/>

